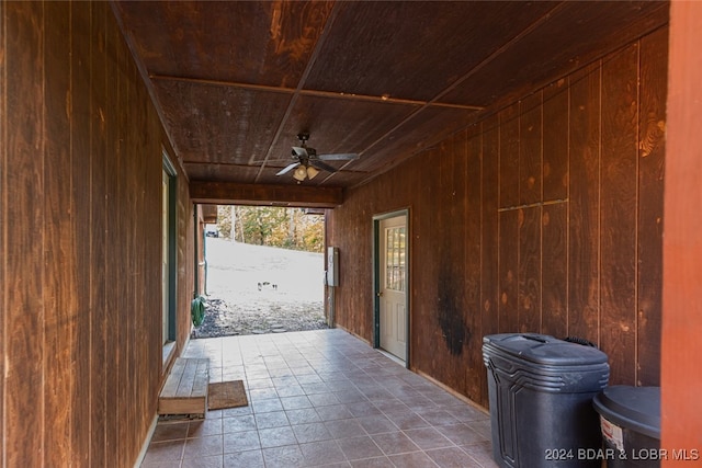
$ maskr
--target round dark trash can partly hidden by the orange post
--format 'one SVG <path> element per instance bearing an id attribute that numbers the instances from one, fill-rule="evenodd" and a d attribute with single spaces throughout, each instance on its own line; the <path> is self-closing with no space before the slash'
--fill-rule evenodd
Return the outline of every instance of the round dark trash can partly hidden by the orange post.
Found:
<path id="1" fill-rule="evenodd" d="M 654 468 L 678 456 L 660 450 L 660 387 L 607 387 L 592 404 L 600 413 L 608 468 Z"/>

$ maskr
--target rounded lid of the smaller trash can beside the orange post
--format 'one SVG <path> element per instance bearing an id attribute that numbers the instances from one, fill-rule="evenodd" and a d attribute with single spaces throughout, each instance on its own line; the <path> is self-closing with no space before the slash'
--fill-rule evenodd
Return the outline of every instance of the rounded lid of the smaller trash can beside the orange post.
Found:
<path id="1" fill-rule="evenodd" d="M 608 421 L 660 440 L 660 387 L 604 387 L 592 404 Z"/>

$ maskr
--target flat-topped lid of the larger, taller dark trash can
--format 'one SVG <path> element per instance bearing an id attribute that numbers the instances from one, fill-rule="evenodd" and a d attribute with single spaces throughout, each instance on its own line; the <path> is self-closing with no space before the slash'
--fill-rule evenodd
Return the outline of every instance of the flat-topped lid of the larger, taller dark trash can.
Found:
<path id="1" fill-rule="evenodd" d="M 539 365 L 582 366 L 608 362 L 607 354 L 596 347 L 570 343 L 547 334 L 490 334 L 483 338 L 483 345 Z"/>

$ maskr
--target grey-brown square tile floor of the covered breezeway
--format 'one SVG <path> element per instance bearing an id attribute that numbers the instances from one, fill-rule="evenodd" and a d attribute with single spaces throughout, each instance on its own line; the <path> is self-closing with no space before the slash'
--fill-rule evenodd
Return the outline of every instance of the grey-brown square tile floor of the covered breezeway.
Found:
<path id="1" fill-rule="evenodd" d="M 249 406 L 159 421 L 141 467 L 495 467 L 483 411 L 339 330 L 193 340 Z"/>

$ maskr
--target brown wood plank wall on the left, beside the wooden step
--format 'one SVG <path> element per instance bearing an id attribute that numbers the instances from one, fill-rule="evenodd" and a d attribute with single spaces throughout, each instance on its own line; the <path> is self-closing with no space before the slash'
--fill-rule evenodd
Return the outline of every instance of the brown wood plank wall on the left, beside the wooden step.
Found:
<path id="1" fill-rule="evenodd" d="M 165 133 L 110 3 L 0 23 L 0 466 L 133 466 L 163 374 Z M 192 213 L 183 181 L 181 346 Z"/>

